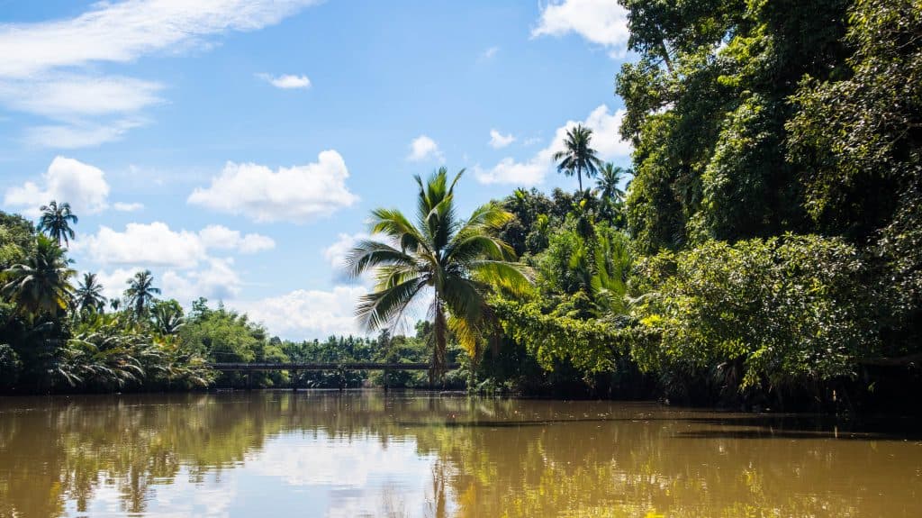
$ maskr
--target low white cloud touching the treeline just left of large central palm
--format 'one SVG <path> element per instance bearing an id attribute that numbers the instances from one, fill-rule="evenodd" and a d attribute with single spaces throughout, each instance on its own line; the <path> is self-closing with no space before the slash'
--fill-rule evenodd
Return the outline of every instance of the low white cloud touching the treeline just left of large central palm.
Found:
<path id="1" fill-rule="evenodd" d="M 364 335 L 354 312 L 363 286 L 337 286 L 329 291 L 298 289 L 278 297 L 236 301 L 232 306 L 266 325 L 274 335 L 291 339 L 330 335 Z"/>

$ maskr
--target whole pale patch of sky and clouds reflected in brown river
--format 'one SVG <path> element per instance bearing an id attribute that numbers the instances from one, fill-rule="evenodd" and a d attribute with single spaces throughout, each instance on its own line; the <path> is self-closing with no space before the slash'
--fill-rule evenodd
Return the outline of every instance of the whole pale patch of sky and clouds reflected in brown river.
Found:
<path id="1" fill-rule="evenodd" d="M 227 518 L 242 510 L 245 500 L 271 499 L 281 492 L 289 497 L 270 506 L 306 516 L 426 516 L 434 462 L 417 453 L 415 441 L 383 444 L 374 435 L 340 439 L 324 432 L 282 436 L 233 469 L 209 470 L 199 477 L 182 468 L 170 480 L 142 482 L 147 486 L 142 514 Z M 121 479 L 100 485 L 86 512 L 77 511 L 77 500 L 67 500 L 65 516 L 124 516 L 128 484 Z M 304 492 L 290 498 L 291 489 Z"/>

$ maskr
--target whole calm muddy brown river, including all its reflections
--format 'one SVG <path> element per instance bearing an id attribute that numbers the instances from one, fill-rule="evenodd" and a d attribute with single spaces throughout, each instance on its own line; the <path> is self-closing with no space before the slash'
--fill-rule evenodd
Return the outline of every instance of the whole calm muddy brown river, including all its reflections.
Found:
<path id="1" fill-rule="evenodd" d="M 922 516 L 916 421 L 425 393 L 0 398 L 0 516 Z"/>

